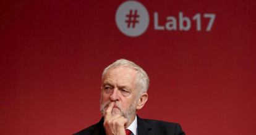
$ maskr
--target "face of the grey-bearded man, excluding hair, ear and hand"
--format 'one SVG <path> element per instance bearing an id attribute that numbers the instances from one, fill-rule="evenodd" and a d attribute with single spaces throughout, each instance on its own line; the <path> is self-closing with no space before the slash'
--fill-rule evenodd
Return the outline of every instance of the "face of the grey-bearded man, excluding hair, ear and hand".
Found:
<path id="1" fill-rule="evenodd" d="M 136 114 L 137 95 L 136 71 L 129 67 L 111 68 L 101 84 L 101 113 L 114 102 L 112 115 L 119 114 L 128 120 Z"/>

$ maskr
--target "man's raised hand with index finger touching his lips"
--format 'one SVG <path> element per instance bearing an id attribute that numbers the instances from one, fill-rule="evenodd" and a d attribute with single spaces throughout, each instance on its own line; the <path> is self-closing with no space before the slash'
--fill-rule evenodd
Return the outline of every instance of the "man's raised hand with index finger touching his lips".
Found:
<path id="1" fill-rule="evenodd" d="M 104 116 L 104 128 L 107 135 L 126 135 L 124 126 L 127 123 L 127 118 L 122 117 L 120 114 L 112 115 L 114 102 L 108 105 Z"/>

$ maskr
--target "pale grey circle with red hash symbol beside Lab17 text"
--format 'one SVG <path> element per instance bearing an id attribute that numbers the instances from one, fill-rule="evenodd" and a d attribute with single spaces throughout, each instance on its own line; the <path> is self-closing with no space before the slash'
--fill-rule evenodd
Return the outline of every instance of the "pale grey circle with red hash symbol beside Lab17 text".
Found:
<path id="1" fill-rule="evenodd" d="M 148 28 L 148 11 L 140 2 L 126 1 L 116 11 L 116 24 L 124 35 L 140 36 Z"/>

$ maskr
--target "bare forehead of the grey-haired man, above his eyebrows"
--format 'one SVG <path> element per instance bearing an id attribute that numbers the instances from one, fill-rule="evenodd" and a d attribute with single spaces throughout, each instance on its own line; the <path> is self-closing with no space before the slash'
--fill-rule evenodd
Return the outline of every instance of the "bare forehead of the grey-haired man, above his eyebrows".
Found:
<path id="1" fill-rule="evenodd" d="M 130 67 L 111 68 L 106 72 L 105 76 L 103 76 L 103 83 L 134 84 L 136 73 L 137 71 Z"/>

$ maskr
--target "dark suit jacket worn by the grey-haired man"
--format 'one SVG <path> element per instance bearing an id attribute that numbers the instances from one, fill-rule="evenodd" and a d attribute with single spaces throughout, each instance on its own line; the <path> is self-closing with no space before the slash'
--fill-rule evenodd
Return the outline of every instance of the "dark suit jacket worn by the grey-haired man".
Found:
<path id="1" fill-rule="evenodd" d="M 138 135 L 186 135 L 181 126 L 177 123 L 169 123 L 158 120 L 142 119 L 137 116 Z M 74 135 L 105 135 L 105 129 L 103 128 L 104 118 L 101 118 L 99 123 L 92 125 L 88 128 L 75 133 Z"/>

